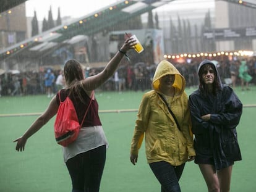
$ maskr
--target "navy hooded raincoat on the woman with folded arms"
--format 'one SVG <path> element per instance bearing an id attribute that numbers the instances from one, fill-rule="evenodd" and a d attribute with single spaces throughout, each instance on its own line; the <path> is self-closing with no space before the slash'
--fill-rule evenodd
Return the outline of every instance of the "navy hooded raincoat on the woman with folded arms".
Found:
<path id="1" fill-rule="evenodd" d="M 215 70 L 220 90 L 216 96 L 198 90 L 189 96 L 189 107 L 192 119 L 192 132 L 195 135 L 194 147 L 197 154 L 203 154 L 205 159 L 209 154 L 212 164 L 217 170 L 232 165 L 241 160 L 241 152 L 237 143 L 236 127 L 242 115 L 242 103 L 228 85 L 221 83 L 220 75 L 211 61 L 203 61 L 199 67 L 212 64 Z M 203 121 L 202 115 L 210 114 L 209 121 Z M 197 159 L 197 157 L 195 158 Z"/>

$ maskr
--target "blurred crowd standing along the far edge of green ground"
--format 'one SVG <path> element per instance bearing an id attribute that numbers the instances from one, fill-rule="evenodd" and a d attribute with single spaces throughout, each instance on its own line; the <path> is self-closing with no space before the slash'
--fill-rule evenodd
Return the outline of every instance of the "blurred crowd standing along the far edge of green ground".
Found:
<path id="1" fill-rule="evenodd" d="M 173 63 L 173 62 L 172 62 Z M 186 86 L 197 86 L 197 68 L 200 62 L 173 63 L 186 78 Z M 249 85 L 256 84 L 256 59 L 241 59 L 236 61 L 219 61 L 217 69 L 223 83 L 243 91 L 249 90 Z M 109 78 L 98 90 L 102 91 L 145 91 L 151 89 L 151 81 L 157 65 L 139 62 L 135 65 L 119 67 L 112 78 Z M 85 77 L 95 75 L 101 68 L 86 68 Z M 24 96 L 46 94 L 51 98 L 65 86 L 62 70 L 46 69 L 45 72 L 4 73 L 0 76 L 0 96 Z"/>

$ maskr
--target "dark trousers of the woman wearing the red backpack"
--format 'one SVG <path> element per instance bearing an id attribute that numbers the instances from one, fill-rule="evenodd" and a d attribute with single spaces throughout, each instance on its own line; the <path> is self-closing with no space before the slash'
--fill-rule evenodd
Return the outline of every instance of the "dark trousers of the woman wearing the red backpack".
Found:
<path id="1" fill-rule="evenodd" d="M 72 192 L 98 192 L 106 161 L 106 146 L 78 154 L 66 162 Z"/>

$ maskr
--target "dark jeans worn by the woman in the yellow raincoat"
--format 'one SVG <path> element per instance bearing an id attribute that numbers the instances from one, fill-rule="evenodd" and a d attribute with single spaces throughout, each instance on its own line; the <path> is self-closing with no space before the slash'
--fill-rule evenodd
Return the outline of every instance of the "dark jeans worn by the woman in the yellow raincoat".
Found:
<path id="1" fill-rule="evenodd" d="M 161 184 L 161 192 L 181 192 L 179 178 L 185 164 L 174 167 L 168 162 L 160 161 L 150 164 L 150 168 Z"/>

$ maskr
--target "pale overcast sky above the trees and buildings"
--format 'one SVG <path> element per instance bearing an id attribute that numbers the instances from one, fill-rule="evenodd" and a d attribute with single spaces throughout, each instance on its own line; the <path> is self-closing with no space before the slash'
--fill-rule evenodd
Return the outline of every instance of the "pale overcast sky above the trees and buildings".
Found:
<path id="1" fill-rule="evenodd" d="M 51 6 L 53 12 L 53 19 L 58 17 L 58 7 L 61 10 L 61 17 L 70 16 L 72 18 L 82 17 L 83 15 L 95 12 L 98 9 L 109 6 L 119 2 L 120 0 L 28 0 L 25 2 L 27 17 L 33 17 L 34 10 L 36 10 L 36 17 L 38 20 L 48 19 L 48 11 Z M 123 0 L 122 0 L 123 1 Z M 161 6 L 155 11 L 168 11 L 178 9 L 209 9 L 214 6 L 215 0 L 176 0 Z"/>

